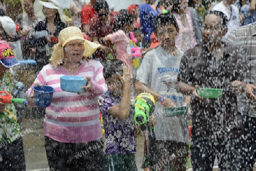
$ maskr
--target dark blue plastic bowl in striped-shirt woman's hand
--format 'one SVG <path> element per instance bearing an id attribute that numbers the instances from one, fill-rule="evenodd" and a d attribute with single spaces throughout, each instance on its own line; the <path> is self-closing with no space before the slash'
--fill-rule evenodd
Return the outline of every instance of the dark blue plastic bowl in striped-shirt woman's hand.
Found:
<path id="1" fill-rule="evenodd" d="M 34 86 L 34 103 L 39 107 L 48 107 L 52 102 L 52 95 L 54 92 L 51 86 Z"/>

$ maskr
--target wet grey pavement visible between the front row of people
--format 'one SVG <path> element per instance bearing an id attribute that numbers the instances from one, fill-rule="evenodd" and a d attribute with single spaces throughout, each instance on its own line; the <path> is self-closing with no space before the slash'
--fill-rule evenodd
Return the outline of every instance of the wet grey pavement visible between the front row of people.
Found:
<path id="1" fill-rule="evenodd" d="M 23 138 L 24 154 L 26 159 L 26 170 L 29 171 L 43 171 L 49 170 L 46 151 L 44 149 L 44 135 L 43 135 L 43 119 L 27 119 L 23 118 L 21 123 L 21 134 Z M 141 169 L 144 151 L 144 136 L 138 134 L 137 136 L 137 155 L 136 162 L 138 171 Z M 213 171 L 217 171 L 217 160 L 214 162 Z M 192 171 L 192 169 L 188 169 Z M 256 168 L 254 168 L 256 171 Z"/>

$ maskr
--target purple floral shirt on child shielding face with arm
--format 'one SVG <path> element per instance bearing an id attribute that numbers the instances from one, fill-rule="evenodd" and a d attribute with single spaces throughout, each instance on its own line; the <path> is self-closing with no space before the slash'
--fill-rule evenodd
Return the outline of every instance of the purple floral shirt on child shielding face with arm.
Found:
<path id="1" fill-rule="evenodd" d="M 133 120 L 134 105 L 131 95 L 130 116 L 128 119 L 118 119 L 109 114 L 108 110 L 119 105 L 121 97 L 114 97 L 110 91 L 98 98 L 106 136 L 105 155 L 124 155 L 136 153 L 136 126 Z"/>

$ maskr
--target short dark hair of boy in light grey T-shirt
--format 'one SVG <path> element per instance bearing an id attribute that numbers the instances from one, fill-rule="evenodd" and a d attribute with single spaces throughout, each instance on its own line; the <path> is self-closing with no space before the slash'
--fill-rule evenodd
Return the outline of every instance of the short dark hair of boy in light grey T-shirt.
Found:
<path id="1" fill-rule="evenodd" d="M 177 28 L 179 28 L 176 18 L 171 12 L 167 12 L 165 14 L 160 14 L 155 18 L 155 21 L 154 21 L 155 32 L 158 27 L 162 27 L 165 24 L 174 24 L 174 27 L 176 28 L 176 30 L 177 30 Z"/>

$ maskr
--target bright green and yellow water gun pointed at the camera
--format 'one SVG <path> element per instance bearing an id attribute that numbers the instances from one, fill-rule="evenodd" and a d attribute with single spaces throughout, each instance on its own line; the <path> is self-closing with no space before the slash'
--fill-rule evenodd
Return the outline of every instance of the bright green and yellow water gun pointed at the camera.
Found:
<path id="1" fill-rule="evenodd" d="M 135 99 L 134 122 L 144 131 L 148 127 L 152 113 L 155 110 L 155 99 L 150 93 L 141 93 Z"/>

